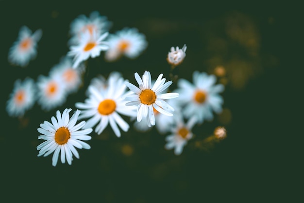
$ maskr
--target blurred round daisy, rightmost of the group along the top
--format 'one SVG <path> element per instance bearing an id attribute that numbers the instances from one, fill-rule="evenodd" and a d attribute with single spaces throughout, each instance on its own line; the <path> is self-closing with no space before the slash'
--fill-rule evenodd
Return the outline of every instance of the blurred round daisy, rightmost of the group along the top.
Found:
<path id="1" fill-rule="evenodd" d="M 124 28 L 110 34 L 107 40 L 110 47 L 104 55 L 107 61 L 117 60 L 122 55 L 134 59 L 148 46 L 145 35 L 136 28 Z"/>

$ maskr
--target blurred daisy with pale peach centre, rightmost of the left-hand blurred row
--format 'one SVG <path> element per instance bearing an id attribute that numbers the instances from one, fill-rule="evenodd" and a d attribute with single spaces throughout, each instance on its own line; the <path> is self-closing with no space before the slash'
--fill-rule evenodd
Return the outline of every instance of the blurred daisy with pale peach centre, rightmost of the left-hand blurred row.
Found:
<path id="1" fill-rule="evenodd" d="M 82 84 L 82 73 L 84 72 L 84 64 L 80 64 L 77 69 L 72 67 L 73 61 L 69 57 L 64 57 L 58 64 L 51 68 L 49 75 L 51 77 L 62 78 L 67 93 L 76 92 Z M 56 75 L 57 74 L 57 75 Z"/>

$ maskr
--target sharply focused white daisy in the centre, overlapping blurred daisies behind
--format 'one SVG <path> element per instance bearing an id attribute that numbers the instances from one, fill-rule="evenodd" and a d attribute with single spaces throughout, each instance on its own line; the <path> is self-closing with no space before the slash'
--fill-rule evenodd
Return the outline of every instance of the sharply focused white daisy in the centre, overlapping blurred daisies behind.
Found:
<path id="1" fill-rule="evenodd" d="M 139 88 L 126 81 L 125 84 L 135 94 L 127 96 L 125 100 L 129 101 L 126 103 L 127 106 L 137 106 L 137 121 L 140 122 L 143 117 L 148 116 L 148 126 L 154 126 L 155 117 L 153 107 L 160 113 L 172 116 L 173 114 L 169 111 L 174 111 L 174 108 L 164 101 L 164 99 L 176 98 L 179 96 L 179 94 L 175 92 L 163 93 L 163 91 L 172 84 L 172 81 L 165 83 L 166 78 L 162 78 L 163 74 L 160 74 L 151 87 L 150 72 L 145 71 L 145 73 L 142 75 L 142 79 L 140 78 L 139 74 L 135 73 L 134 75 Z"/>

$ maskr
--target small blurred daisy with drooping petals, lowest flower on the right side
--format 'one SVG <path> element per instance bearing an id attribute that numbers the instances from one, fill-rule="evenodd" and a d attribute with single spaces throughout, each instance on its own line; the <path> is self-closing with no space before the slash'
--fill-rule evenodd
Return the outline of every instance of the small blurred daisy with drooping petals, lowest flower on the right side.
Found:
<path id="1" fill-rule="evenodd" d="M 174 154 L 180 155 L 188 140 L 193 136 L 192 128 L 197 122 L 197 117 L 192 116 L 186 124 L 182 116 L 176 116 L 174 120 L 176 123 L 171 128 L 171 134 L 165 138 L 167 141 L 165 148 L 168 150 L 174 148 Z"/>

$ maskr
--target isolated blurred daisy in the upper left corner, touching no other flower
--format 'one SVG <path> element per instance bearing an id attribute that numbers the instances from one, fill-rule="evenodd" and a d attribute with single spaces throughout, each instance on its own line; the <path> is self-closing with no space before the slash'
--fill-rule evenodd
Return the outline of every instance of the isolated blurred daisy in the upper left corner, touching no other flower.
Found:
<path id="1" fill-rule="evenodd" d="M 17 41 L 9 49 L 9 62 L 21 67 L 27 66 L 29 61 L 33 60 L 37 55 L 37 42 L 41 36 L 41 29 L 32 33 L 27 26 L 22 26 L 19 30 Z"/>

